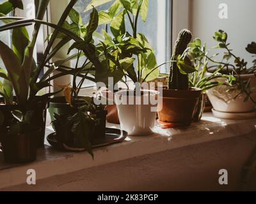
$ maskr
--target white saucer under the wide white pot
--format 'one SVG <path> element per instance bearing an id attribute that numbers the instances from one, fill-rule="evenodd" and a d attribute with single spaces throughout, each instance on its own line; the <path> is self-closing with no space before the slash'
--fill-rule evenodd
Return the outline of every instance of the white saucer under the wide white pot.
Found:
<path id="1" fill-rule="evenodd" d="M 226 112 L 216 111 L 212 108 L 212 113 L 215 117 L 218 117 L 220 119 L 246 120 L 246 119 L 256 118 L 256 110 L 254 112 L 249 112 L 249 113 L 226 113 Z"/>

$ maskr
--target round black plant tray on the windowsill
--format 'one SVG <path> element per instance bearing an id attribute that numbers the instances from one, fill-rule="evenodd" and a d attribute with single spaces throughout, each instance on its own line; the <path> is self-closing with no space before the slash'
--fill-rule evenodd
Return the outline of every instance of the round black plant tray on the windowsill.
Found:
<path id="1" fill-rule="evenodd" d="M 105 147 L 108 145 L 112 145 L 114 143 L 123 142 L 125 138 L 127 138 L 127 136 L 128 136 L 128 133 L 120 129 L 106 128 L 105 138 L 96 139 L 92 144 L 92 148 L 95 149 L 98 147 Z M 48 135 L 47 141 L 49 142 L 50 145 L 52 145 L 52 147 L 60 150 L 67 150 L 67 151 L 74 151 L 74 152 L 83 152 L 86 150 L 84 148 L 68 147 L 65 144 L 61 145 L 60 147 L 60 144 L 57 141 L 56 133 L 51 133 L 50 135 Z"/>

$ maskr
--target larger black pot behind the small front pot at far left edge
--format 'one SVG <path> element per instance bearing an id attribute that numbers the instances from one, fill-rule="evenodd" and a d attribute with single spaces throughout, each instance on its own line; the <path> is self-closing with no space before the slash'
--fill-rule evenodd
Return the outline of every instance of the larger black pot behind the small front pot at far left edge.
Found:
<path id="1" fill-rule="evenodd" d="M 33 110 L 33 117 L 31 119 L 31 124 L 40 128 L 40 133 L 36 135 L 36 143 L 38 147 L 44 146 L 45 138 L 45 124 L 47 108 L 49 108 L 49 99 L 42 99 L 33 105 L 28 105 L 27 108 L 22 108 L 19 105 L 4 105 L 4 99 L 0 98 L 0 111 L 4 115 L 3 127 L 8 127 L 13 122 L 12 111 L 13 110 Z M 2 103 L 2 104 L 1 104 Z"/>

